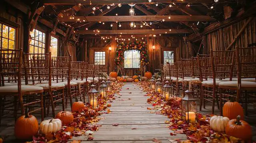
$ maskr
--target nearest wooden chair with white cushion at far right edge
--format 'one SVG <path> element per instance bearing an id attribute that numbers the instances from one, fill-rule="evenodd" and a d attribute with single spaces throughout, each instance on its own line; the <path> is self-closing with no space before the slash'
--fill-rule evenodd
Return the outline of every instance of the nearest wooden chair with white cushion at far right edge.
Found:
<path id="1" fill-rule="evenodd" d="M 223 102 L 231 98 L 244 103 L 245 114 L 248 114 L 248 103 L 256 100 L 256 47 L 236 47 L 236 67 L 238 80 L 223 81 L 219 83 L 220 109 L 222 115 Z"/>

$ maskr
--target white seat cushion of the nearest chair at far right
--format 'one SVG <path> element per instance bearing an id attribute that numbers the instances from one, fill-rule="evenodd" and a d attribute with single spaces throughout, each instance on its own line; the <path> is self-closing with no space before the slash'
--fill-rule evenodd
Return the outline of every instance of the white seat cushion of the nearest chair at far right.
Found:
<path id="1" fill-rule="evenodd" d="M 238 82 L 237 81 L 223 81 L 223 82 L 219 83 L 219 86 L 237 87 Z M 256 82 L 241 81 L 241 87 L 256 87 Z"/>

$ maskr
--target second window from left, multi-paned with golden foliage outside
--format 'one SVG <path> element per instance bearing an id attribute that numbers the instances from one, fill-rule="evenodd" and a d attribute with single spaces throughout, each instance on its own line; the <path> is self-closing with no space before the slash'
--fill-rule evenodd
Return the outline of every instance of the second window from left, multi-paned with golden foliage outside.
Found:
<path id="1" fill-rule="evenodd" d="M 37 29 L 33 29 L 30 32 L 31 41 L 29 43 L 29 53 L 36 54 L 36 53 L 44 53 L 45 52 L 45 33 L 39 31 Z"/>

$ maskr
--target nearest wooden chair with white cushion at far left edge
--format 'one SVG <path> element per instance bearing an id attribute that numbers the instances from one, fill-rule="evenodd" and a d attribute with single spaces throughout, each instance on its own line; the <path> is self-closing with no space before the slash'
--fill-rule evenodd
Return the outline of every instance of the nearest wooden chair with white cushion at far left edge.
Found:
<path id="1" fill-rule="evenodd" d="M 30 108 L 32 105 L 39 104 L 40 108 L 30 110 L 30 113 L 41 110 L 41 119 L 44 120 L 44 106 L 43 106 L 43 88 L 34 85 L 22 85 L 22 54 L 23 50 L 12 50 L 12 49 L 0 49 L 0 76 L 1 76 L 1 86 L 0 86 L 0 121 L 4 111 L 4 101 L 6 98 L 14 98 L 14 118 L 17 119 L 17 110 L 19 101 L 21 114 L 25 114 L 25 107 Z M 24 74 L 23 74 L 24 75 Z M 8 80 L 17 82 L 18 84 L 13 84 L 5 86 Z M 28 81 L 26 80 L 26 83 Z M 32 102 L 30 102 L 30 96 L 36 97 Z M 4 99 L 4 100 L 3 100 Z"/>

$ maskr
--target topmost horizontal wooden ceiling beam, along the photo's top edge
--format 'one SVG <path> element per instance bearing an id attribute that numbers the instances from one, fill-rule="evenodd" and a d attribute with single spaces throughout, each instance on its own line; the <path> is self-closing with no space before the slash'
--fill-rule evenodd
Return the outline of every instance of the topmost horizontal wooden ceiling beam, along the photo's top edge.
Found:
<path id="1" fill-rule="evenodd" d="M 45 5 L 74 5 L 74 4 L 83 4 L 83 5 L 90 5 L 91 2 L 92 4 L 117 4 L 117 3 L 122 3 L 122 4 L 127 4 L 127 3 L 136 3 L 136 4 L 152 4 L 152 3 L 212 3 L 212 0 L 154 0 L 152 2 L 148 2 L 148 0 L 43 0 Z M 224 2 L 224 0 L 219 0 L 220 2 Z"/>

